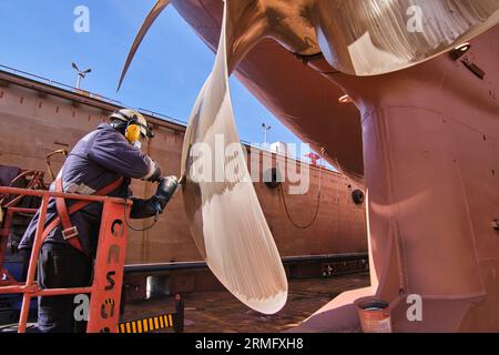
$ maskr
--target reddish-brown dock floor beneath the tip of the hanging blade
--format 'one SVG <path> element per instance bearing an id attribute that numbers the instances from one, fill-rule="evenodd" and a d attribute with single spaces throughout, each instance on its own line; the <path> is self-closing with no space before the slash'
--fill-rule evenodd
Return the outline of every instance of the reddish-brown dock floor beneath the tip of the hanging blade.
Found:
<path id="1" fill-rule="evenodd" d="M 297 326 L 342 292 L 369 285 L 369 274 L 328 278 L 293 280 L 286 306 L 267 316 L 249 310 L 226 291 L 183 295 L 185 333 L 273 333 Z M 174 311 L 173 296 L 126 304 L 123 321 L 140 320 Z M 164 329 L 160 332 L 172 332 Z"/>

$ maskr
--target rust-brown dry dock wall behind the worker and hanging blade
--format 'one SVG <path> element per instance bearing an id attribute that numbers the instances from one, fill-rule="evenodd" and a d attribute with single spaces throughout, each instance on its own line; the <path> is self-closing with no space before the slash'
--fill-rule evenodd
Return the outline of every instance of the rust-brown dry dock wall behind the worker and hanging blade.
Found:
<path id="1" fill-rule="evenodd" d="M 106 122 L 109 114 L 118 108 L 89 93 L 79 94 L 0 71 L 0 164 L 45 171 L 44 156 L 48 153 L 58 149 L 70 151 L 83 135 Z M 146 118 L 154 124 L 156 136 L 143 150 L 159 162 L 164 174 L 179 175 L 185 128 L 151 115 Z M 275 154 L 272 159 L 285 160 Z M 62 158 L 54 158 L 54 171 L 62 162 Z M 310 166 L 308 192 L 304 195 L 285 193 L 289 216 L 298 225 L 312 221 L 317 205 L 319 174 L 320 207 L 315 223 L 305 230 L 291 223 L 278 189 L 269 189 L 264 182 L 254 183 L 282 256 L 365 253 L 364 204 L 354 203 L 352 192 L 357 186 L 342 174 Z M 138 196 L 149 196 L 155 185 L 134 181 L 132 190 Z M 143 227 L 151 221 L 132 223 Z M 180 195 L 171 201 L 154 229 L 129 233 L 129 264 L 198 260 L 201 256 L 191 237 Z"/>

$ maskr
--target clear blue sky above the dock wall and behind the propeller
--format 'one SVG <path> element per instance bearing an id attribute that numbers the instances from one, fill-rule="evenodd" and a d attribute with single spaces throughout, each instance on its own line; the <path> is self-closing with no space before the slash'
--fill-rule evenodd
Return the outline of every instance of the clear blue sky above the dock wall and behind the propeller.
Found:
<path id="1" fill-rule="evenodd" d="M 150 30 L 119 93 L 116 85 L 130 45 L 155 0 L 1 1 L 0 64 L 75 84 L 71 62 L 93 72 L 82 89 L 186 121 L 207 78 L 214 53 L 169 7 Z M 90 32 L 77 33 L 75 7 L 90 9 Z M 262 122 L 273 128 L 268 141 L 299 143 L 236 80 L 231 80 L 240 138 L 262 142 Z"/>

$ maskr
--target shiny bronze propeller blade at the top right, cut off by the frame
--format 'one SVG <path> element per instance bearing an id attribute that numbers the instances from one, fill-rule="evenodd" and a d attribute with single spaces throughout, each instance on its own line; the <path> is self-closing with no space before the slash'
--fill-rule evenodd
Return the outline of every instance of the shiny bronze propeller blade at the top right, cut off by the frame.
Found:
<path id="1" fill-rule="evenodd" d="M 332 0 L 315 11 L 326 60 L 353 75 L 410 68 L 499 22 L 499 0 Z"/>

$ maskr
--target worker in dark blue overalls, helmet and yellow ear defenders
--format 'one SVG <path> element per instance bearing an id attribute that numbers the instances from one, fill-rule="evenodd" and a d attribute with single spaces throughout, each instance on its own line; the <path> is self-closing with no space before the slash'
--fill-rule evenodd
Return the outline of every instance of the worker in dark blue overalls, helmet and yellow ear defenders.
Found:
<path id="1" fill-rule="evenodd" d="M 174 176 L 161 179 L 160 166 L 141 151 L 142 141 L 153 135 L 140 112 L 128 109 L 115 111 L 110 116 L 110 123 L 100 124 L 77 143 L 52 183 L 51 191 L 130 197 L 133 202 L 131 219 L 157 216 L 163 213 L 177 182 Z M 131 196 L 131 179 L 161 183 L 154 196 L 141 200 Z M 92 283 L 103 207 L 101 203 L 93 202 L 69 214 L 74 203 L 77 201 L 64 199 L 49 201 L 38 263 L 40 288 L 84 287 Z M 19 246 L 21 250 L 32 247 L 39 213 L 23 235 Z M 39 297 L 40 332 L 85 332 L 86 323 L 74 318 L 74 295 Z"/>

